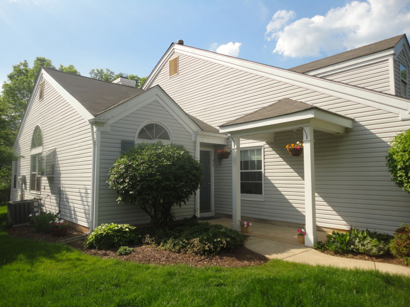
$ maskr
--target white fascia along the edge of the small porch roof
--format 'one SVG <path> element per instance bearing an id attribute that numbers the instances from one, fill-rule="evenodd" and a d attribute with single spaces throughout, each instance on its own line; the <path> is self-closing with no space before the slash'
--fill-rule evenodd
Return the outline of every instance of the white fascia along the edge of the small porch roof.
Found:
<path id="1" fill-rule="evenodd" d="M 291 122 L 317 119 L 344 128 L 353 128 L 354 120 L 334 113 L 326 112 L 318 108 L 310 108 L 296 113 L 285 114 L 277 117 L 261 119 L 252 122 L 237 123 L 227 126 L 220 126 L 221 133 L 232 133 L 234 131 L 253 129 L 264 126 L 280 125 Z"/>

